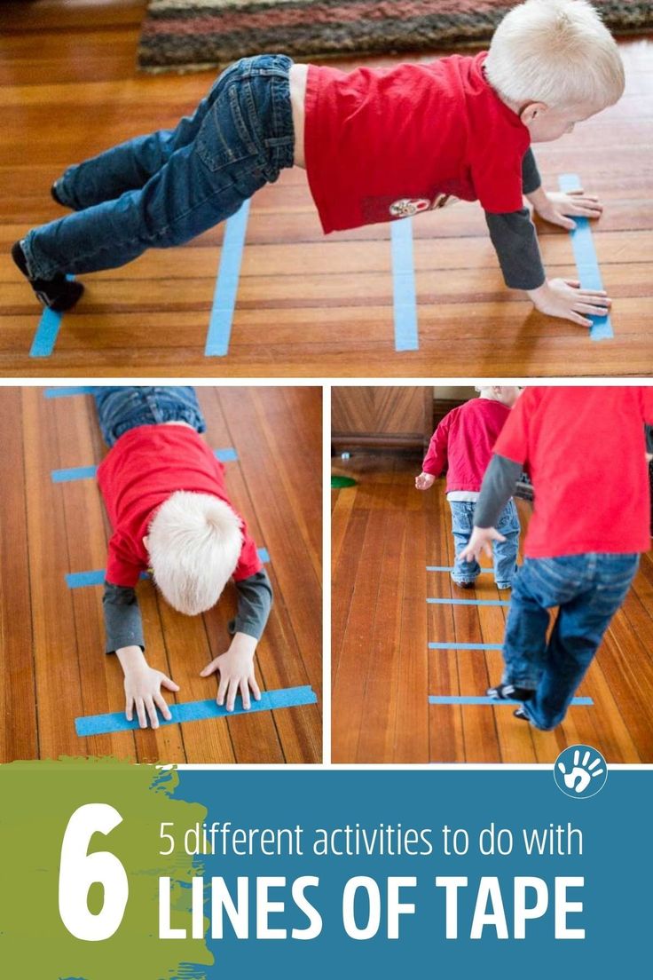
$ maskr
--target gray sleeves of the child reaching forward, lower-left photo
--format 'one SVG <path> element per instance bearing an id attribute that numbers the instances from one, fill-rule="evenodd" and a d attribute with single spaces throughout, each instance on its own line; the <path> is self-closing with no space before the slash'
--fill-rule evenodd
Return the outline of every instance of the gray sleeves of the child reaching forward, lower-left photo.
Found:
<path id="1" fill-rule="evenodd" d="M 234 583 L 238 594 L 238 612 L 229 623 L 229 632 L 247 633 L 259 640 L 272 606 L 272 585 L 264 568 Z M 145 650 L 143 620 L 138 608 L 136 590 L 105 582 L 102 600 L 107 643 L 105 650 L 114 654 L 123 647 Z"/>

